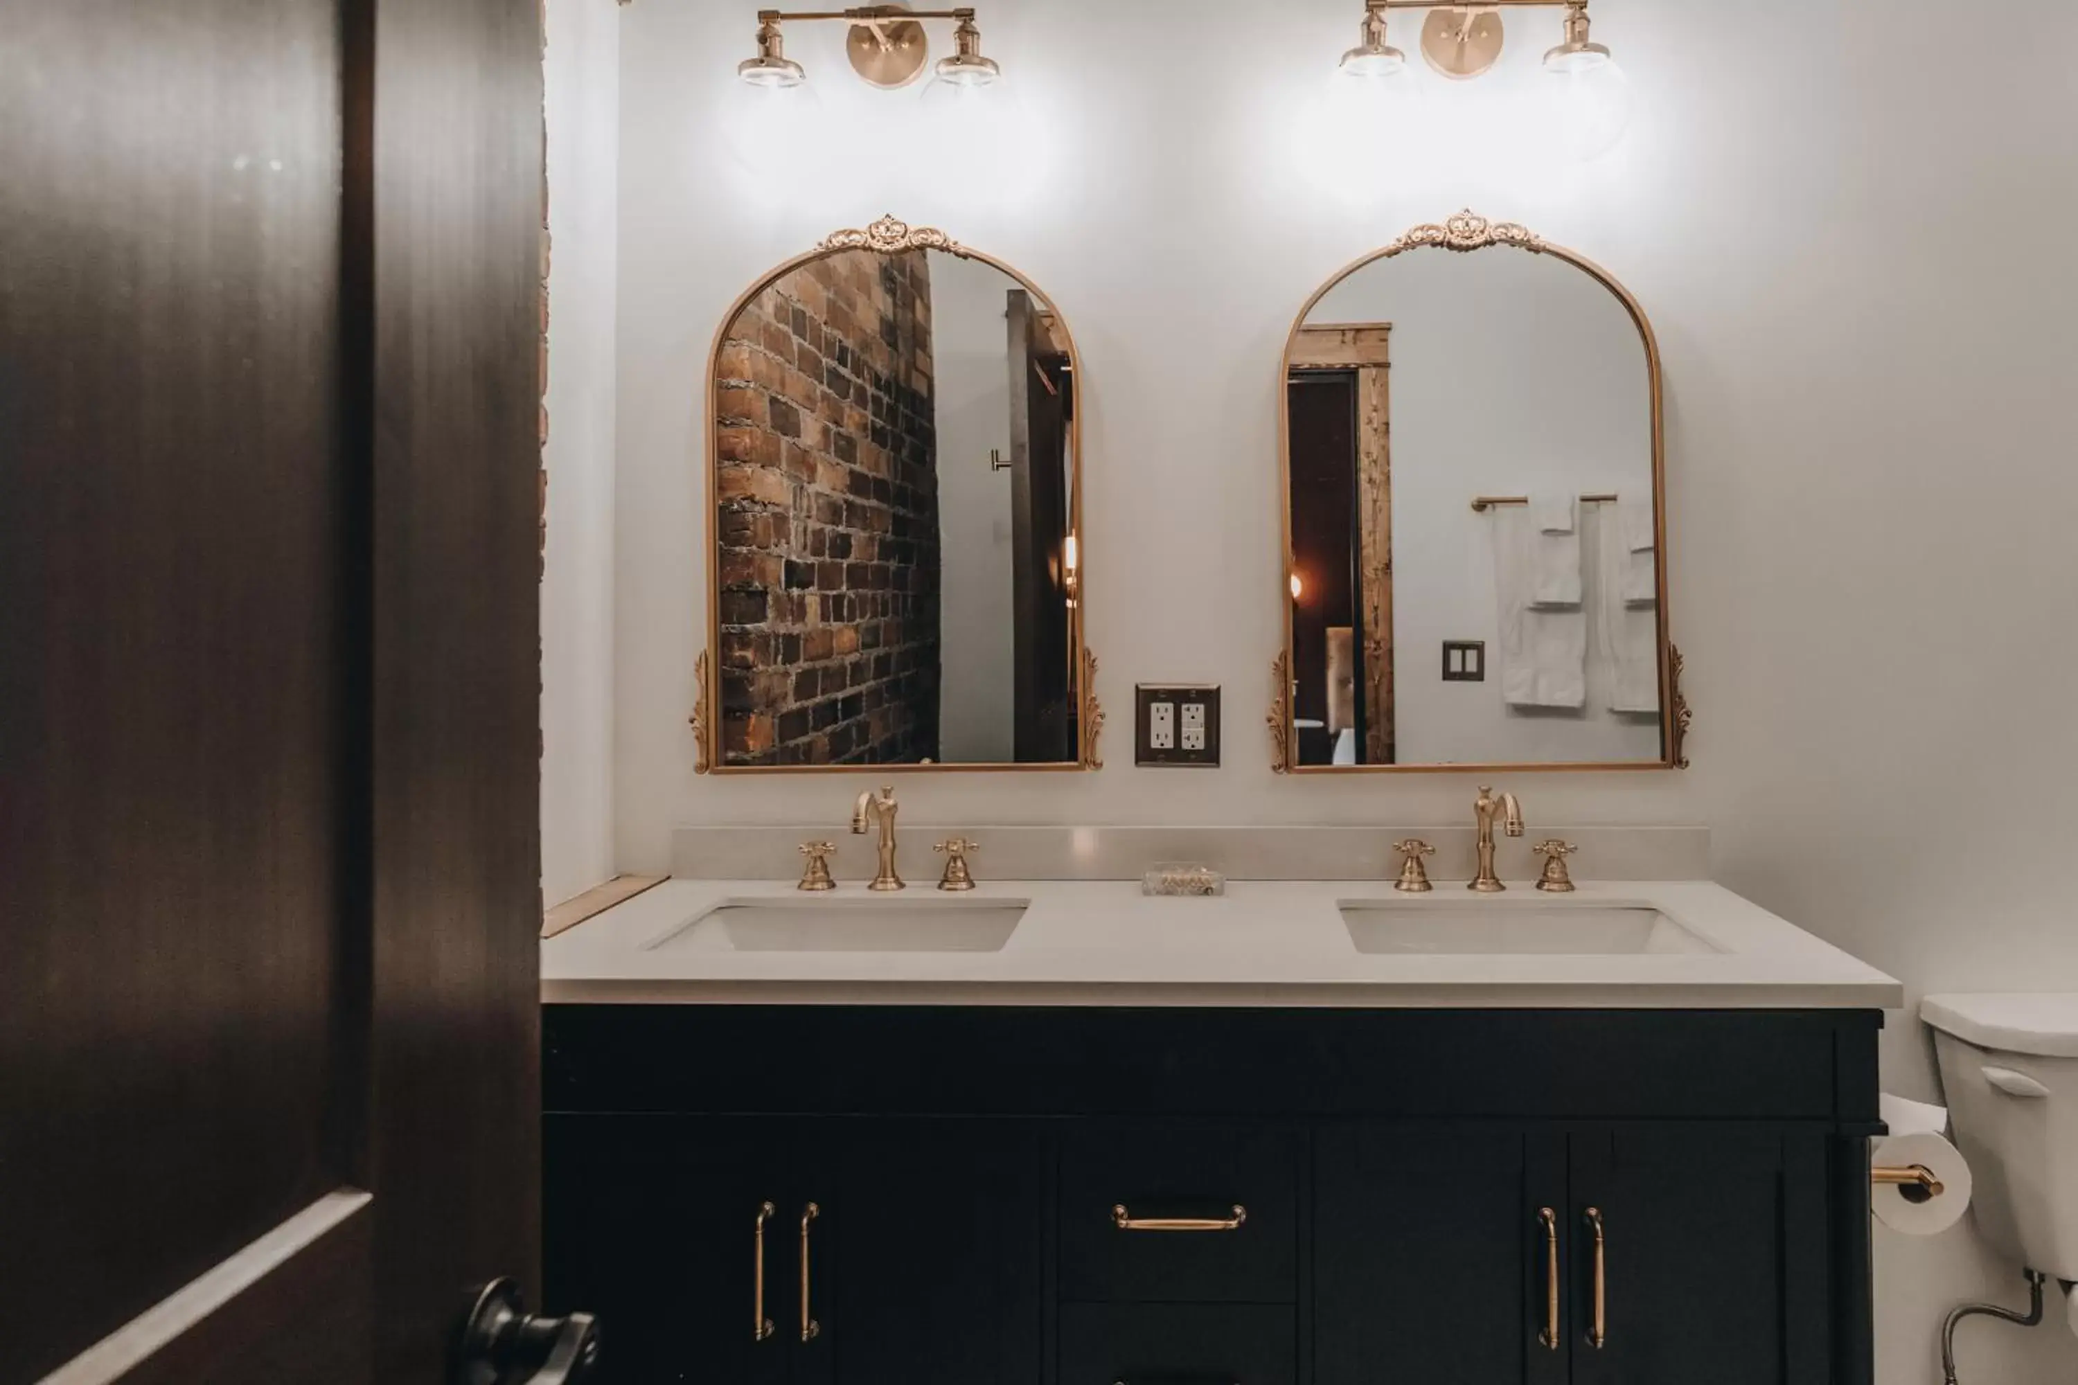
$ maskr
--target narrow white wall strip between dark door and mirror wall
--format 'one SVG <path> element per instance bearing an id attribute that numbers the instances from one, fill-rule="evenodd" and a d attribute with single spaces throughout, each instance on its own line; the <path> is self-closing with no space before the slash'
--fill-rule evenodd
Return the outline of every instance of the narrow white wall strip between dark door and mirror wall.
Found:
<path id="1" fill-rule="evenodd" d="M 613 411 L 621 23 L 549 6 L 549 550 L 540 586 L 540 893 L 613 874 Z"/>

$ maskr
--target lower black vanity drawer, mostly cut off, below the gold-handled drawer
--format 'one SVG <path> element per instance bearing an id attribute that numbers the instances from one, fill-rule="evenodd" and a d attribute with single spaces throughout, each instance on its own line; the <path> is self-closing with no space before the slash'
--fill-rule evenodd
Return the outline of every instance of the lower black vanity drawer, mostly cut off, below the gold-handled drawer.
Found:
<path id="1" fill-rule="evenodd" d="M 1293 1385 L 1293 1310 L 1270 1304 L 1066 1304 L 1060 1385 Z"/>

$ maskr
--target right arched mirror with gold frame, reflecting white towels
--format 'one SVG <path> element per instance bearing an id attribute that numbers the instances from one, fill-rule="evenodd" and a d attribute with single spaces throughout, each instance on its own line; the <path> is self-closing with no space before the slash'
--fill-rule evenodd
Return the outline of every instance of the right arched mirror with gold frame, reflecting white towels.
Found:
<path id="1" fill-rule="evenodd" d="M 1513 222 L 1415 226 L 1313 293 L 1280 374 L 1274 768 L 1673 768 L 1660 355 Z"/>

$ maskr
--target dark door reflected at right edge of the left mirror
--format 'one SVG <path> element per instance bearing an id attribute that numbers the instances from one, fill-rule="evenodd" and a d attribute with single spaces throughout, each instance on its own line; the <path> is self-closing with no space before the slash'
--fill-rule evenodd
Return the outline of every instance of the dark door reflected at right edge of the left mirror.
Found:
<path id="1" fill-rule="evenodd" d="M 1045 309 L 1012 289 L 1010 330 L 1010 667 L 1020 764 L 1076 758 L 1074 658 L 1068 637 L 1068 419 L 1074 376 Z"/>

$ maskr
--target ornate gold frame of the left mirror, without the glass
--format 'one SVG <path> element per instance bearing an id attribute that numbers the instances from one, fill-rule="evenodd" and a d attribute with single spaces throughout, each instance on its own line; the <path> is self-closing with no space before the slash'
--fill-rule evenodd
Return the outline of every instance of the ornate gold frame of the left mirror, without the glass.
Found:
<path id="1" fill-rule="evenodd" d="M 715 534 L 715 515 L 719 513 L 719 471 L 721 471 L 721 426 L 719 426 L 719 384 L 717 368 L 721 361 L 721 347 L 727 341 L 729 326 L 736 322 L 738 314 L 750 305 L 761 293 L 771 289 L 777 280 L 792 274 L 804 264 L 825 260 L 829 255 L 846 251 L 881 251 L 900 253 L 910 249 L 937 249 L 948 255 L 958 255 L 960 260 L 975 260 L 987 264 L 1002 274 L 1016 280 L 1027 293 L 1037 301 L 1045 303 L 1056 322 L 1060 324 L 1062 336 L 1068 341 L 1068 368 L 1074 380 L 1081 384 L 1083 357 L 1074 345 L 1074 332 L 1068 328 L 1066 316 L 1060 311 L 1060 303 L 1045 289 L 1035 284 L 1018 268 L 1004 264 L 995 255 L 983 253 L 968 245 L 960 245 L 943 230 L 931 226 L 910 226 L 894 216 L 883 216 L 864 228 L 833 230 L 823 237 L 815 249 L 794 255 L 785 264 L 758 276 L 750 289 L 746 289 L 734 303 L 729 311 L 723 314 L 721 326 L 715 328 L 715 341 L 707 355 L 707 482 L 704 482 L 704 546 L 707 546 L 707 646 L 694 660 L 694 706 L 692 706 L 692 737 L 694 737 L 694 772 L 696 775 L 858 775 L 858 772 L 889 772 L 889 775 L 912 775 L 912 772 L 954 772 L 954 770 L 1101 770 L 1103 758 L 1097 752 L 1099 737 L 1103 733 L 1103 708 L 1097 704 L 1097 656 L 1089 652 L 1083 640 L 1083 610 L 1089 604 L 1089 550 L 1081 542 L 1083 536 L 1083 409 L 1076 407 L 1068 419 L 1068 536 L 1074 542 L 1074 600 L 1068 604 L 1068 656 L 1070 671 L 1074 677 L 1074 706 L 1076 706 L 1076 758 L 1074 760 L 1047 760 L 1029 764 L 727 764 L 721 754 L 721 718 L 713 714 L 713 708 L 721 706 L 721 544 Z"/>

